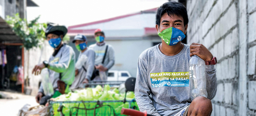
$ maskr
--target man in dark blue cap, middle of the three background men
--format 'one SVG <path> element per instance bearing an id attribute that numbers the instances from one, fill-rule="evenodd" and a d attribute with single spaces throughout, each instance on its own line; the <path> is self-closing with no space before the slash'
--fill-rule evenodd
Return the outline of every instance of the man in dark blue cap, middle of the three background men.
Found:
<path id="1" fill-rule="evenodd" d="M 78 34 L 75 36 L 73 43 L 78 51 L 80 51 L 77 58 L 76 76 L 70 89 L 83 88 L 83 82 L 88 83 L 91 80 L 92 72 L 94 70 L 95 52 L 91 48 L 87 48 L 87 39 L 84 35 Z"/>

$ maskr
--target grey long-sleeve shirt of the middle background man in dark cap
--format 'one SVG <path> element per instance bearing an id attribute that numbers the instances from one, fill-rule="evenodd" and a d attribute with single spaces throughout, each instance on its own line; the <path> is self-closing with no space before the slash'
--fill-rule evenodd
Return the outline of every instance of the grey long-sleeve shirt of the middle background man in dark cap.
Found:
<path id="1" fill-rule="evenodd" d="M 70 87 L 70 89 L 77 89 L 83 87 L 83 81 L 85 78 L 88 80 L 91 80 L 92 73 L 94 70 L 94 60 L 95 60 L 95 52 L 91 48 L 87 48 L 83 53 L 80 52 L 78 59 L 79 60 L 83 55 L 87 56 L 87 61 L 84 63 L 83 67 L 87 70 L 87 72 L 84 70 L 84 68 L 78 69 L 78 75 L 75 76 L 75 80 Z"/>

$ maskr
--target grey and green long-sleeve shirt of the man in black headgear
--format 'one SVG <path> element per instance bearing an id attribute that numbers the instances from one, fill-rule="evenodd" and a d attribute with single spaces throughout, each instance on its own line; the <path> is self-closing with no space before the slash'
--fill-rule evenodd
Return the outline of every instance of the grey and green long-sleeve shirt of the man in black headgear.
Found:
<path id="1" fill-rule="evenodd" d="M 55 56 L 50 57 L 48 71 L 53 88 L 57 87 L 59 73 L 61 73 L 61 80 L 64 81 L 65 84 L 71 85 L 75 78 L 75 52 L 73 49 L 64 44 Z M 38 92 L 44 93 L 42 84 Z"/>

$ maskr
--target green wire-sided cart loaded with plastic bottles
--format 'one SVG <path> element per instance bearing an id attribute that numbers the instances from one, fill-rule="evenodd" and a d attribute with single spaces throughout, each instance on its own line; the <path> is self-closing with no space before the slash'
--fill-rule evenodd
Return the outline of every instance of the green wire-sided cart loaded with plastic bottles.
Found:
<path id="1" fill-rule="evenodd" d="M 122 108 L 138 109 L 137 102 L 130 101 L 49 101 L 51 116 L 125 116 Z"/>

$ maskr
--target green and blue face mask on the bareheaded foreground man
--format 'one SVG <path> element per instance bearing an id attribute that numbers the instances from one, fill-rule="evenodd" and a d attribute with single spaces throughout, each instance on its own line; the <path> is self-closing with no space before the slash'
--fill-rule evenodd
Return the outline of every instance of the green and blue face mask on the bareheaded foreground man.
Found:
<path id="1" fill-rule="evenodd" d="M 160 36 L 160 38 L 162 38 L 169 46 L 174 46 L 186 37 L 181 30 L 174 27 L 170 27 L 164 29 L 162 32 L 158 32 L 158 36 Z"/>

